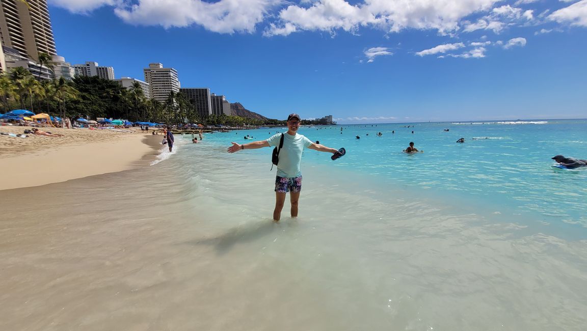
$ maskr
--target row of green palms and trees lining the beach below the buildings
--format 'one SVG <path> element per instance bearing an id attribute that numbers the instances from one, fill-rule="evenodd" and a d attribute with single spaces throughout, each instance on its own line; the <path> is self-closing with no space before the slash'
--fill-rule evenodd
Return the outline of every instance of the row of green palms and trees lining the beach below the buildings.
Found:
<path id="1" fill-rule="evenodd" d="M 284 120 L 258 120 L 247 117 L 211 115 L 201 118 L 183 93 L 170 93 L 163 103 L 146 99 L 139 83 L 129 89 L 100 77 L 63 77 L 39 82 L 23 67 L 0 75 L 0 101 L 3 112 L 21 108 L 60 117 L 107 117 L 130 121 L 204 126 L 285 126 Z M 302 120 L 303 125 L 319 124 Z"/>

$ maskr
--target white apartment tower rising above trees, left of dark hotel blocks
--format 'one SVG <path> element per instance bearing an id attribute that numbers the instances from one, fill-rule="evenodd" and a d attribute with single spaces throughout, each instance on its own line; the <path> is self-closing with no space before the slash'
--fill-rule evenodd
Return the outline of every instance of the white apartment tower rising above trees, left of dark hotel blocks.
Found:
<path id="1" fill-rule="evenodd" d="M 143 69 L 145 82 L 150 86 L 151 97 L 158 102 L 165 102 L 170 92 L 180 92 L 180 80 L 177 70 L 164 68 L 161 63 L 149 63 L 149 67 Z"/>

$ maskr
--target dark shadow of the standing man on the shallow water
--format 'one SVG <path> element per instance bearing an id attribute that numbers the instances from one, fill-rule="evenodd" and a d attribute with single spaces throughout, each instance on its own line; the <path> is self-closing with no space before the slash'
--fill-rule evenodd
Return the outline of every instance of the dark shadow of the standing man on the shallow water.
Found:
<path id="1" fill-rule="evenodd" d="M 237 225 L 237 227 L 230 228 L 221 235 L 194 239 L 185 244 L 191 245 L 211 245 L 218 254 L 225 254 L 235 244 L 244 244 L 247 242 L 254 242 L 260 238 L 267 237 L 271 234 L 280 233 L 284 227 L 294 227 L 298 224 L 295 219 L 288 220 L 287 225 L 282 222 L 276 222 L 273 219 L 265 218 L 259 222 L 248 222 Z"/>

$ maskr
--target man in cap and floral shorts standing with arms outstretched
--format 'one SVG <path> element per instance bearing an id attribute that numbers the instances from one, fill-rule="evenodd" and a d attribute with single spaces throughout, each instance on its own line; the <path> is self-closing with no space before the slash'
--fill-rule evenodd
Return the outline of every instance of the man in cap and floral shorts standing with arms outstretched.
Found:
<path id="1" fill-rule="evenodd" d="M 302 165 L 303 148 L 323 151 L 329 153 L 339 153 L 334 148 L 329 148 L 321 144 L 312 143 L 311 140 L 298 134 L 300 117 L 298 114 L 289 114 L 288 131 L 284 134 L 284 146 L 279 151 L 279 162 L 277 164 L 277 177 L 275 177 L 275 210 L 273 219 L 279 221 L 281 210 L 284 208 L 285 194 L 289 191 L 289 201 L 291 202 L 291 216 L 298 216 L 299 194 L 302 190 Z M 267 140 L 253 141 L 248 144 L 232 143 L 228 147 L 228 153 L 235 153 L 239 150 L 253 150 L 262 147 L 274 146 L 279 148 L 281 133 L 275 134 Z"/>

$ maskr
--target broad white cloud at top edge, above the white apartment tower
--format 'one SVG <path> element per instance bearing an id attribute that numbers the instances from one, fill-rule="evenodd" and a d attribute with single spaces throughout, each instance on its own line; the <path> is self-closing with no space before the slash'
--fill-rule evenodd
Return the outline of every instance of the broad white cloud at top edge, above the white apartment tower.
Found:
<path id="1" fill-rule="evenodd" d="M 123 21 L 165 28 L 201 25 L 220 33 L 254 32 L 255 25 L 281 0 L 137 0 L 133 5 L 114 9 Z M 288 29 L 285 27 L 284 29 Z"/>

